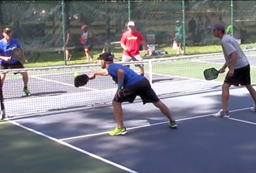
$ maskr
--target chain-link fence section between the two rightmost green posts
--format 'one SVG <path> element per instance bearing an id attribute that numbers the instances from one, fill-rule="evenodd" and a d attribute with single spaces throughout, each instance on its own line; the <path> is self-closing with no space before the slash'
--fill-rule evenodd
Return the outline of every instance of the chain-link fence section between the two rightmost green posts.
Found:
<path id="1" fill-rule="evenodd" d="M 219 39 L 212 34 L 210 26 L 217 22 L 230 25 L 230 1 L 185 1 L 186 43 L 193 45 L 216 45 Z"/>

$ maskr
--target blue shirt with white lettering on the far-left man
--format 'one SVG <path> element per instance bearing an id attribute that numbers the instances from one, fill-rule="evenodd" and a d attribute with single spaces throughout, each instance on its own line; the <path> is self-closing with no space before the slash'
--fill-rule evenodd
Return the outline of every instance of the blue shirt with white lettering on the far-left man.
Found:
<path id="1" fill-rule="evenodd" d="M 7 43 L 4 39 L 0 40 L 0 55 L 4 57 L 10 57 L 13 49 L 20 48 L 20 43 L 15 38 L 11 38 L 10 42 Z M 10 61 L 3 61 L 0 59 L 0 64 L 14 64 L 18 62 L 16 58 L 12 58 Z"/>

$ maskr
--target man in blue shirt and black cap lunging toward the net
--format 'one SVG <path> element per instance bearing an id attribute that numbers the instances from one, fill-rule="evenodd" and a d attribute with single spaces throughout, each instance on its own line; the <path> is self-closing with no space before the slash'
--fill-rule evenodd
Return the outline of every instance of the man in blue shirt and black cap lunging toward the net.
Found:
<path id="1" fill-rule="evenodd" d="M 147 78 L 138 75 L 121 64 L 113 63 L 114 57 L 111 53 L 103 53 L 99 56 L 102 70 L 89 75 L 89 79 L 95 79 L 96 75 L 110 75 L 118 83 L 118 90 L 112 100 L 117 127 L 109 132 L 109 135 L 124 135 L 127 131 L 122 119 L 122 102 L 133 103 L 136 96 L 140 96 L 143 104 L 153 103 L 170 120 L 169 127 L 177 128 L 177 124 L 167 106 L 160 101 Z"/>

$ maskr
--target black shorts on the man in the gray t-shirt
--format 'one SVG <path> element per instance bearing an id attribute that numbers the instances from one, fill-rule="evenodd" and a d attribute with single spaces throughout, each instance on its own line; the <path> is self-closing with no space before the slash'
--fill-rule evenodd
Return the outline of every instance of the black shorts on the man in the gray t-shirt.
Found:
<path id="1" fill-rule="evenodd" d="M 234 86 L 239 86 L 239 84 L 250 85 L 251 84 L 250 65 L 246 65 L 245 67 L 235 69 L 234 75 L 231 77 L 228 77 L 226 75 L 224 83 L 228 83 Z"/>

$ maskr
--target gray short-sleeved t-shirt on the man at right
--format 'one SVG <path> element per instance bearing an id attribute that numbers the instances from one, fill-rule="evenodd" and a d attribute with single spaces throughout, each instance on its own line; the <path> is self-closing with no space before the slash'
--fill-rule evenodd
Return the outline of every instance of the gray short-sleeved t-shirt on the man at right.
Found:
<path id="1" fill-rule="evenodd" d="M 234 67 L 235 69 L 245 67 L 249 64 L 249 61 L 240 48 L 238 42 L 232 36 L 226 34 L 223 35 L 221 39 L 221 46 L 228 67 L 231 65 L 231 54 L 234 51 L 237 51 L 236 65 Z"/>

